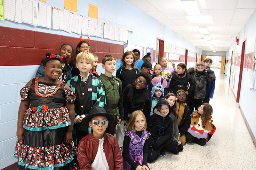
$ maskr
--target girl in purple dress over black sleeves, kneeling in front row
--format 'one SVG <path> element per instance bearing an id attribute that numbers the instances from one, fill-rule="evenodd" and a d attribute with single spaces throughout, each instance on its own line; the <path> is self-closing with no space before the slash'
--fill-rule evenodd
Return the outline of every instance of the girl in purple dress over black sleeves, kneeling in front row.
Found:
<path id="1" fill-rule="evenodd" d="M 149 170 L 147 157 L 150 132 L 146 131 L 146 128 L 146 117 L 143 112 L 140 110 L 132 112 L 124 136 L 124 170 Z"/>

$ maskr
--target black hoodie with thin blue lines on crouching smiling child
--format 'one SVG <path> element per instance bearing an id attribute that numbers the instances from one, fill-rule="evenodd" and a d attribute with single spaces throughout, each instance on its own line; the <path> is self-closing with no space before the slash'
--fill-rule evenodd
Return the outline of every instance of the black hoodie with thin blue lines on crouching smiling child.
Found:
<path id="1" fill-rule="evenodd" d="M 158 111 L 156 108 L 159 105 L 169 106 L 168 115 L 165 117 L 162 116 L 160 111 Z M 169 116 L 170 114 L 171 106 L 169 105 L 168 101 L 164 99 L 159 100 L 156 106 L 153 108 L 153 115 L 149 117 L 148 129 L 152 138 L 149 138 L 148 146 L 153 146 L 153 143 L 155 143 L 157 147 L 159 147 L 169 139 L 173 138 L 173 120 Z"/>

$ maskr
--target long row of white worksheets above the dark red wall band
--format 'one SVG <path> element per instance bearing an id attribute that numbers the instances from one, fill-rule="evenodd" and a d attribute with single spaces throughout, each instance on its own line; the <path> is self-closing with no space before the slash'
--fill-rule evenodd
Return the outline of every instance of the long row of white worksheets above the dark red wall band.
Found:
<path id="1" fill-rule="evenodd" d="M 33 0 L 4 0 L 4 19 L 127 42 L 126 29 Z"/>

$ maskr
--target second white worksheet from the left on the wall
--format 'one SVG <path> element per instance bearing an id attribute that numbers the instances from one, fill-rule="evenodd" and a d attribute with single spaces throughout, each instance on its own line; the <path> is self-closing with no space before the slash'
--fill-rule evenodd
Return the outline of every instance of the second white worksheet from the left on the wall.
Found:
<path id="1" fill-rule="evenodd" d="M 38 2 L 23 0 L 22 4 L 22 22 L 38 25 Z"/>

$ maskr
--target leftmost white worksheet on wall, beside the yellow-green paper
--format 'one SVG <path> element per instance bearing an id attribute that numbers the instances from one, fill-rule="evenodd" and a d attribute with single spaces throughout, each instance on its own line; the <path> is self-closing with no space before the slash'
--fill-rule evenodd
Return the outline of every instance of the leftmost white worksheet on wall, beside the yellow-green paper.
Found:
<path id="1" fill-rule="evenodd" d="M 4 0 L 4 19 L 21 23 L 22 3 L 20 0 Z"/>

